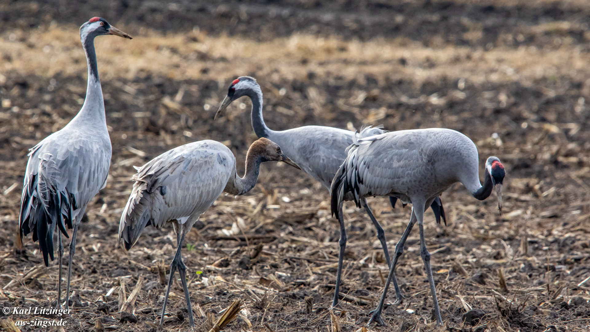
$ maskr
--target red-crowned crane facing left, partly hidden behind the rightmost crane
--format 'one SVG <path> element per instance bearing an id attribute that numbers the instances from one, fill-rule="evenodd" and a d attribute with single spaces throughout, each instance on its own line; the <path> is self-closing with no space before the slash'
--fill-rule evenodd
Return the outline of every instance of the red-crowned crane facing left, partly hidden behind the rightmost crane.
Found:
<path id="1" fill-rule="evenodd" d="M 320 181 L 328 190 L 330 190 L 330 184 L 332 179 L 338 170 L 338 167 L 342 165 L 342 162 L 346 158 L 346 148 L 349 147 L 353 142 L 354 132 L 346 131 L 344 129 L 327 127 L 327 126 L 303 126 L 299 128 L 287 129 L 285 131 L 273 131 L 266 123 L 264 123 L 262 115 L 262 104 L 263 96 L 260 85 L 256 82 L 253 77 L 242 76 L 235 79 L 228 90 L 228 94 L 219 106 L 219 110 L 215 113 L 215 119 L 223 113 L 223 111 L 233 102 L 234 100 L 248 96 L 252 101 L 252 127 L 258 137 L 266 137 L 271 139 L 273 142 L 277 142 L 286 155 L 297 162 L 298 165 L 307 174 L 311 175 L 317 181 Z M 368 128 L 364 134 L 382 134 L 383 131 L 379 128 Z M 349 197 L 352 198 L 352 197 Z M 395 197 L 391 197 L 391 206 L 395 208 L 396 203 Z M 391 265 L 389 260 L 389 252 L 387 250 L 387 242 L 385 240 L 385 232 L 379 224 L 379 222 L 373 216 L 371 208 L 366 203 L 363 197 L 360 204 L 365 208 L 366 213 L 371 218 L 373 226 L 377 231 L 377 238 L 381 242 L 383 253 L 388 266 Z M 440 222 L 440 217 L 444 219 L 445 224 L 447 220 L 444 215 L 444 209 L 442 209 L 442 203 L 440 198 L 436 198 L 432 202 L 432 210 Z M 346 249 L 346 230 L 344 224 L 340 224 L 340 258 L 344 257 L 344 251 Z M 340 291 L 340 275 L 342 274 L 342 259 L 338 265 L 336 274 L 336 287 L 334 292 L 334 299 L 332 302 L 333 307 L 338 304 L 338 295 Z M 398 297 L 398 301 L 402 301 L 401 290 L 398 287 L 396 279 L 394 279 L 394 287 Z"/>

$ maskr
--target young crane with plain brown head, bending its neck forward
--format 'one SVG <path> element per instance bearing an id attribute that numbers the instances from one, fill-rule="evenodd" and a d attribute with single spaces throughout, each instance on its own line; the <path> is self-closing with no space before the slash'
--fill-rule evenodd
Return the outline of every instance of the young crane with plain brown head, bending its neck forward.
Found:
<path id="1" fill-rule="evenodd" d="M 160 326 L 166 313 L 166 302 L 174 272 L 178 269 L 184 288 L 191 327 L 191 298 L 186 285 L 186 266 L 182 262 L 182 242 L 199 216 L 222 192 L 243 195 L 254 188 L 264 161 L 284 161 L 299 168 L 283 155 L 281 148 L 269 139 L 255 141 L 246 155 L 243 178 L 235 170 L 231 150 L 217 141 L 198 141 L 181 145 L 153 158 L 133 175 L 133 190 L 123 210 L 119 237 L 125 250 L 135 245 L 143 229 L 152 225 L 160 229 L 172 223 L 176 232 L 176 254 L 170 264 L 170 278 L 162 307 Z"/>

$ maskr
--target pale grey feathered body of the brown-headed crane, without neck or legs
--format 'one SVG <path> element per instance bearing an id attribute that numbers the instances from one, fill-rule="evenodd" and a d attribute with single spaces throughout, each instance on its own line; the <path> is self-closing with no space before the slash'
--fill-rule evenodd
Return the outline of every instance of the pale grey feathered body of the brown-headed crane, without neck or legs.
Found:
<path id="1" fill-rule="evenodd" d="M 219 142 L 199 141 L 165 152 L 133 175 L 133 190 L 119 224 L 129 250 L 148 225 L 198 216 L 222 193 L 235 174 L 235 157 Z"/>

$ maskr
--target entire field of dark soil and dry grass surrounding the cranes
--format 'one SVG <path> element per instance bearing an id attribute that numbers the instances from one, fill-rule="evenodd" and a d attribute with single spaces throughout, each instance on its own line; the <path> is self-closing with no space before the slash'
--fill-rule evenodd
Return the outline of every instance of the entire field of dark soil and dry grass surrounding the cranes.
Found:
<path id="1" fill-rule="evenodd" d="M 442 318 L 466 331 L 585 330 L 589 14 L 583 0 L 0 0 L 0 284 L 12 281 L 0 300 L 48 305 L 57 295 L 57 268 L 44 268 L 30 238 L 22 246 L 17 240 L 22 180 L 28 149 L 63 128 L 83 103 L 78 29 L 100 16 L 133 40 L 95 41 L 113 160 L 78 233 L 73 301 L 80 311 L 65 330 L 87 330 L 96 320 L 112 330 L 153 329 L 175 236 L 172 227 L 149 228 L 129 253 L 119 248 L 132 166 L 215 139 L 234 151 L 241 174 L 256 139 L 250 100 L 212 119 L 242 75 L 260 83 L 271 129 L 451 128 L 476 143 L 481 165 L 499 157 L 507 170 L 503 214 L 494 197 L 477 201 L 455 184 L 441 196 L 447 226 L 426 215 Z M 369 204 L 393 250 L 409 207 L 392 210 L 382 197 Z M 366 320 L 381 294 L 387 267 L 366 214 L 352 203 L 345 214 L 342 291 L 354 300 L 337 319 L 343 331 L 356 331 L 353 324 Z M 244 298 L 246 319 L 228 331 L 327 331 L 334 323 L 322 310 L 333 295 L 338 238 L 327 190 L 302 171 L 264 164 L 251 193 L 219 197 L 189 234 L 183 256 L 192 302 L 217 318 Z M 434 328 L 417 242 L 412 233 L 396 272 L 406 299 L 383 312 L 386 331 Z M 120 323 L 120 283 L 132 288 L 139 275 L 148 281 L 137 300 L 139 322 Z M 181 289 L 173 289 L 171 313 L 185 305 Z M 483 318 L 466 318 L 472 309 Z M 208 329 L 207 318 L 195 315 Z M 166 324 L 187 326 L 182 312 Z"/>

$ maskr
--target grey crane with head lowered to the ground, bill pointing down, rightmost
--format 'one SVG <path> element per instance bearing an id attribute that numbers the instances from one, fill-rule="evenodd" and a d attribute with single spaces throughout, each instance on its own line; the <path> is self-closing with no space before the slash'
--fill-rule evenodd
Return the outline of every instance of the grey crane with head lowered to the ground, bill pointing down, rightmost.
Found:
<path id="1" fill-rule="evenodd" d="M 460 132 L 442 128 L 388 132 L 355 139 L 347 152 L 346 160 L 332 181 L 331 209 L 339 220 L 342 220 L 342 201 L 347 193 L 352 193 L 358 207 L 362 198 L 367 196 L 393 196 L 412 203 L 411 219 L 395 246 L 394 261 L 381 300 L 369 323 L 383 325 L 381 310 L 389 282 L 395 276 L 395 265 L 404 251 L 405 240 L 418 222 L 420 255 L 430 283 L 437 325 L 442 324 L 430 253 L 424 239 L 424 211 L 435 197 L 456 182 L 463 183 L 478 200 L 489 197 L 495 186 L 501 210 L 502 182 L 506 175 L 504 166 L 497 157 L 487 158 L 485 180 L 481 185 L 476 145 Z"/>

